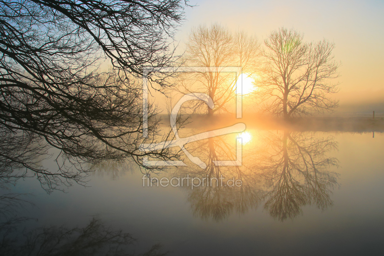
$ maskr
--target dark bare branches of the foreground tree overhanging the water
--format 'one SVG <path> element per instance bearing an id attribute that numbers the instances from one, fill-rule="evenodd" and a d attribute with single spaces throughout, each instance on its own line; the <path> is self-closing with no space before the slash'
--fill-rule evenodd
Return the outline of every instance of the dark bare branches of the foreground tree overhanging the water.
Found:
<path id="1" fill-rule="evenodd" d="M 51 189 L 81 175 L 63 163 L 58 172 L 36 165 L 38 150 L 57 148 L 72 163 L 128 157 L 142 165 L 144 155 L 177 158 L 167 150 L 139 151 L 144 138 L 137 78 L 144 67 L 175 63 L 168 42 L 183 20 L 184 5 L 179 0 L 1 0 L 0 132 L 6 135 L 0 165 L 7 171 L 32 170 Z M 112 71 L 100 71 L 104 60 Z M 164 87 L 170 85 L 168 76 L 150 72 L 148 79 Z M 154 114 L 150 107 L 148 140 L 158 136 Z M 22 146 L 13 145 L 20 141 Z M 2 177 L 12 176 L 3 170 Z"/>

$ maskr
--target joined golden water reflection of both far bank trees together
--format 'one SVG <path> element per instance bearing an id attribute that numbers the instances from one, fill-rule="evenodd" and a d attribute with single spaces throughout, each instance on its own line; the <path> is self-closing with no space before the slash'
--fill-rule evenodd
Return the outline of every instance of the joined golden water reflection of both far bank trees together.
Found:
<path id="1" fill-rule="evenodd" d="M 246 131 L 247 132 L 247 131 Z M 232 213 L 245 213 L 263 204 L 278 220 L 295 218 L 305 205 L 325 210 L 333 204 L 331 193 L 338 186 L 331 167 L 338 160 L 328 154 L 337 149 L 332 136 L 312 132 L 247 132 L 243 141 L 242 166 L 217 166 L 214 161 L 236 159 L 235 137 L 215 137 L 189 145 L 188 150 L 207 167 L 188 164 L 175 168 L 172 177 L 211 177 L 242 180 L 241 187 L 199 186 L 188 191 L 193 213 L 202 219 L 220 221 Z M 237 135 L 238 136 L 238 135 Z M 252 139 L 252 141 L 251 141 Z"/>

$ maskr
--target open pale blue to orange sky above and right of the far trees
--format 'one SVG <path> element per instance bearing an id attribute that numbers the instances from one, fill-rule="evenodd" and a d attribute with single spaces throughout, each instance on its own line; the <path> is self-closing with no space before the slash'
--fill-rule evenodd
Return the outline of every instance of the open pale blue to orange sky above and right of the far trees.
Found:
<path id="1" fill-rule="evenodd" d="M 190 0 L 175 39 L 184 47 L 192 27 L 220 23 L 260 40 L 281 26 L 295 28 L 304 41 L 323 38 L 336 46 L 339 112 L 384 112 L 384 1 Z"/>

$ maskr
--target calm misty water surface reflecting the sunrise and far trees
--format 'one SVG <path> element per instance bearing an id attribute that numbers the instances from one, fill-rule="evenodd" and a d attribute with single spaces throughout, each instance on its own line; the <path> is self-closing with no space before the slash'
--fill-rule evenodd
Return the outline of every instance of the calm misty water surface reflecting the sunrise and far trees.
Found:
<path id="1" fill-rule="evenodd" d="M 159 175 L 222 173 L 242 179 L 241 188 L 143 187 L 137 168 L 107 163 L 88 187 L 48 195 L 28 178 L 11 192 L 33 194 L 35 206 L 22 213 L 38 221 L 26 228 L 85 226 L 98 218 L 131 233 L 138 252 L 161 243 L 169 255 L 383 255 L 384 134 L 250 130 L 242 136 L 242 167 L 210 169 L 212 153 L 235 154 L 235 137 L 228 136 L 189 147 L 206 170 Z"/>

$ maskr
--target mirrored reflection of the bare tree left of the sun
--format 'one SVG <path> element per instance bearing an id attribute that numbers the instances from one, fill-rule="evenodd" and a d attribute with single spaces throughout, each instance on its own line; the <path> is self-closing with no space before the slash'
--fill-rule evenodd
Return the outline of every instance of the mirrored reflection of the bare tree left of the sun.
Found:
<path id="1" fill-rule="evenodd" d="M 245 179 L 248 176 L 238 166 L 217 166 L 214 164 L 214 161 L 236 159 L 235 145 L 227 143 L 222 137 L 215 137 L 198 141 L 190 145 L 188 150 L 202 159 L 207 167 L 204 169 L 194 165 L 181 167 L 177 169 L 176 174 L 180 177 L 187 175 L 198 177 L 200 180 L 213 178 L 212 184 L 209 186 L 205 184 L 205 186 L 189 190 L 188 201 L 195 216 L 205 220 L 212 218 L 215 221 L 220 221 L 233 212 L 245 213 L 250 208 L 257 207 L 260 201 L 260 191 L 251 183 L 253 182 L 252 177 Z M 219 179 L 221 175 L 225 178 L 222 184 Z M 242 180 L 242 186 L 224 186 L 225 180 L 232 178 Z"/>

